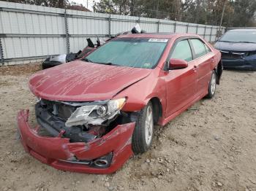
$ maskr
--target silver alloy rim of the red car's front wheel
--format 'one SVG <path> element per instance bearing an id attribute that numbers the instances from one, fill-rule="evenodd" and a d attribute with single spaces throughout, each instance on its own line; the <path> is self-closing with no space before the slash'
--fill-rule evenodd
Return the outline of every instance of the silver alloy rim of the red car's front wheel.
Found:
<path id="1" fill-rule="evenodd" d="M 151 106 L 148 106 L 146 111 L 146 124 L 145 124 L 145 139 L 146 144 L 151 144 L 152 136 L 153 136 L 153 112 Z"/>

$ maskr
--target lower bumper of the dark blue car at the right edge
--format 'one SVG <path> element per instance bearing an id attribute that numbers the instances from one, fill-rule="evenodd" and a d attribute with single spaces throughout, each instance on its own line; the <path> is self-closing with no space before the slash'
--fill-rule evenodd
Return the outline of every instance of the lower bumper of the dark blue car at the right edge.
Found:
<path id="1" fill-rule="evenodd" d="M 222 64 L 225 69 L 256 69 L 256 59 L 246 60 L 222 58 Z"/>

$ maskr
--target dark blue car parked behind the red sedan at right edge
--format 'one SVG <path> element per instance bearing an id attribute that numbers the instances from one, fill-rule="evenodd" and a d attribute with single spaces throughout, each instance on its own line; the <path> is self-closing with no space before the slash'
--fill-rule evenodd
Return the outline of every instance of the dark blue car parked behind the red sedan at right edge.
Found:
<path id="1" fill-rule="evenodd" d="M 222 52 L 225 69 L 256 71 L 256 29 L 227 31 L 214 47 Z"/>

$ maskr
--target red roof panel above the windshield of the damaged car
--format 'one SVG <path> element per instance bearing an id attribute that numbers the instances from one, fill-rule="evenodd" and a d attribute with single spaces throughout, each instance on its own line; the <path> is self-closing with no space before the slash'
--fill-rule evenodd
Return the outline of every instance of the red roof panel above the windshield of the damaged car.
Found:
<path id="1" fill-rule="evenodd" d="M 196 34 L 178 34 L 178 33 L 143 33 L 143 34 L 123 34 L 118 38 L 157 38 L 157 39 L 170 39 L 173 37 L 182 36 L 198 36 Z"/>

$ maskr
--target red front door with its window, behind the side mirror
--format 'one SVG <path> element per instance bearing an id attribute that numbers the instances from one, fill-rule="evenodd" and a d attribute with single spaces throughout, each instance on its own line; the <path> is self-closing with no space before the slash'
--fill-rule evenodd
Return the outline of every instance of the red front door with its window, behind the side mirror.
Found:
<path id="1" fill-rule="evenodd" d="M 170 70 L 165 76 L 167 90 L 166 117 L 175 114 L 195 98 L 197 82 L 197 70 L 192 62 L 192 50 L 187 39 L 176 41 L 170 50 L 167 61 L 170 58 L 185 60 L 188 62 L 188 67 L 186 69 Z"/>

